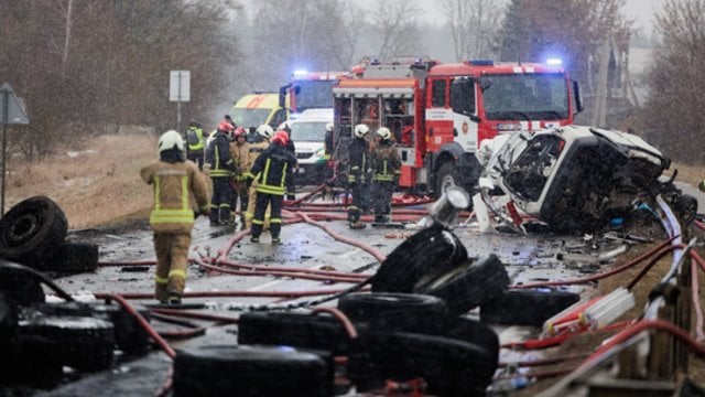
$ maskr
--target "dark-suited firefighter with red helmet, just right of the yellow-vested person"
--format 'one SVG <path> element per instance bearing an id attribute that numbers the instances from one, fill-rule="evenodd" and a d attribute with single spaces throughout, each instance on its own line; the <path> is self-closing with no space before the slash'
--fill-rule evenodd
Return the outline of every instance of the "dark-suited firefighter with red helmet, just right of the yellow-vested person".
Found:
<path id="1" fill-rule="evenodd" d="M 229 137 L 232 130 L 232 125 L 229 122 L 220 122 L 206 155 L 206 161 L 210 165 L 208 174 L 213 181 L 210 226 L 227 225 L 230 219 L 230 202 L 232 201 L 230 179 L 236 173 L 236 165 L 230 155 Z"/>

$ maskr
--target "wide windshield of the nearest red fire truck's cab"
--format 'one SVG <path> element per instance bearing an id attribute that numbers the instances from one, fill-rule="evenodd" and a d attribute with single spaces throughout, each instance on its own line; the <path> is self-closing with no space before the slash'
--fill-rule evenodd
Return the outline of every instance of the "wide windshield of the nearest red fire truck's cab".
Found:
<path id="1" fill-rule="evenodd" d="M 558 120 L 568 117 L 562 74 L 505 74 L 480 78 L 488 120 Z"/>

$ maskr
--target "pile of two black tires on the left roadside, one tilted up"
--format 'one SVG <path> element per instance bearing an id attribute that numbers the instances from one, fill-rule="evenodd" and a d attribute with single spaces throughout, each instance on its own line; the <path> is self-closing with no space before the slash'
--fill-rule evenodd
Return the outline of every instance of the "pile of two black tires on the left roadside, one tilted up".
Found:
<path id="1" fill-rule="evenodd" d="M 26 198 L 0 218 L 0 258 L 43 271 L 95 271 L 98 246 L 67 242 L 67 229 L 66 215 L 55 202 Z"/>

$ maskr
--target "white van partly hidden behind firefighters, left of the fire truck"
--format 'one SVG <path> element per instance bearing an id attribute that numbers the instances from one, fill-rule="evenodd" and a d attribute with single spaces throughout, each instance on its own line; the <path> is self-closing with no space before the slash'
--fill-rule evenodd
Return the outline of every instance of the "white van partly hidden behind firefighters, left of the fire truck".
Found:
<path id="1" fill-rule="evenodd" d="M 296 184 L 325 182 L 326 125 L 333 122 L 333 108 L 304 110 L 291 120 L 291 139 L 296 148 Z"/>

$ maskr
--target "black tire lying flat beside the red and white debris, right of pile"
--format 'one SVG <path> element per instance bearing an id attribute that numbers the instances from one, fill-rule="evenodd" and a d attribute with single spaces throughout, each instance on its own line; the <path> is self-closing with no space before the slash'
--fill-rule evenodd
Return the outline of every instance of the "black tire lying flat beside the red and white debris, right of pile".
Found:
<path id="1" fill-rule="evenodd" d="M 508 290 L 480 305 L 480 320 L 491 324 L 541 326 L 579 299 L 579 294 L 566 291 Z"/>

